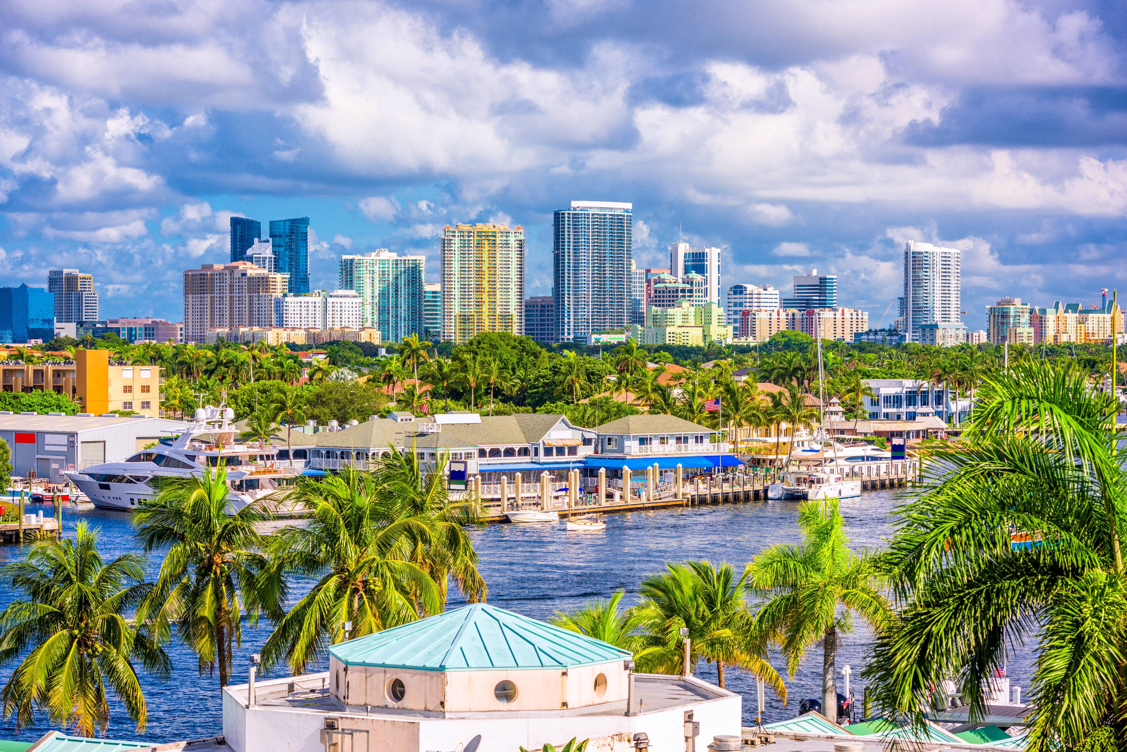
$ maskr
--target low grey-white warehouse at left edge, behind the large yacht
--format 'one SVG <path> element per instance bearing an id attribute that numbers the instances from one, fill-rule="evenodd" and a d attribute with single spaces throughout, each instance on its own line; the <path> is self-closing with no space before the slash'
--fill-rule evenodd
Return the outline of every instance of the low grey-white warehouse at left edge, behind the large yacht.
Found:
<path id="1" fill-rule="evenodd" d="M 66 470 L 119 462 L 186 423 L 144 416 L 16 415 L 0 412 L 0 439 L 11 449 L 12 475 L 63 483 Z"/>

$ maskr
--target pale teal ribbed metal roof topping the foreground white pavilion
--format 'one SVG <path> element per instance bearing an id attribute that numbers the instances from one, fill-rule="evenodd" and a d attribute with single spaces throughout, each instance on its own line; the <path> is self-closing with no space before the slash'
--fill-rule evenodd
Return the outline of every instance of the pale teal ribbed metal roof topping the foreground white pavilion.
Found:
<path id="1" fill-rule="evenodd" d="M 486 603 L 340 643 L 329 653 L 353 666 L 428 671 L 567 669 L 631 655 L 602 640 Z"/>

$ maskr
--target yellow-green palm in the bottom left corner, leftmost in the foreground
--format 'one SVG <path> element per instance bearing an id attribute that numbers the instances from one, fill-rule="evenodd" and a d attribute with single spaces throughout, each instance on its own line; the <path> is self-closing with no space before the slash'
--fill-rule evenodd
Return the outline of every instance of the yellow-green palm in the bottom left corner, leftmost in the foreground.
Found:
<path id="1" fill-rule="evenodd" d="M 112 691 L 143 732 L 149 710 L 136 664 L 160 679 L 172 667 L 128 618 L 152 589 L 144 582 L 144 557 L 131 551 L 106 564 L 97 530 L 83 521 L 74 540 L 36 542 L 0 576 L 27 596 L 0 612 L 0 664 L 26 653 L 0 696 L 5 717 L 30 725 L 42 708 L 53 724 L 83 736 L 105 734 Z"/>

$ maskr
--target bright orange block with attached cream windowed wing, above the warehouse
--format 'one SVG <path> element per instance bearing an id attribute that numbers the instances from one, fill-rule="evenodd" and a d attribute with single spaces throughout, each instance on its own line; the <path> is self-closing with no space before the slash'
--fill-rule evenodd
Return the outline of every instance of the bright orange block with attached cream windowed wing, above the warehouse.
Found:
<path id="1" fill-rule="evenodd" d="M 83 413 L 133 410 L 160 417 L 163 379 L 159 365 L 110 363 L 108 350 L 80 350 L 76 371 L 76 397 Z"/>

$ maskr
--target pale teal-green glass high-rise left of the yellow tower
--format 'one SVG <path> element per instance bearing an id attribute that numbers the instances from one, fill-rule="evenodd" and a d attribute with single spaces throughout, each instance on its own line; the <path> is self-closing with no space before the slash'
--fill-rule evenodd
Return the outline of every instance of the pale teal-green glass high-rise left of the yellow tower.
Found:
<path id="1" fill-rule="evenodd" d="M 340 257 L 339 286 L 362 301 L 362 326 L 380 330 L 383 342 L 423 337 L 426 256 L 400 256 L 387 248 Z"/>

